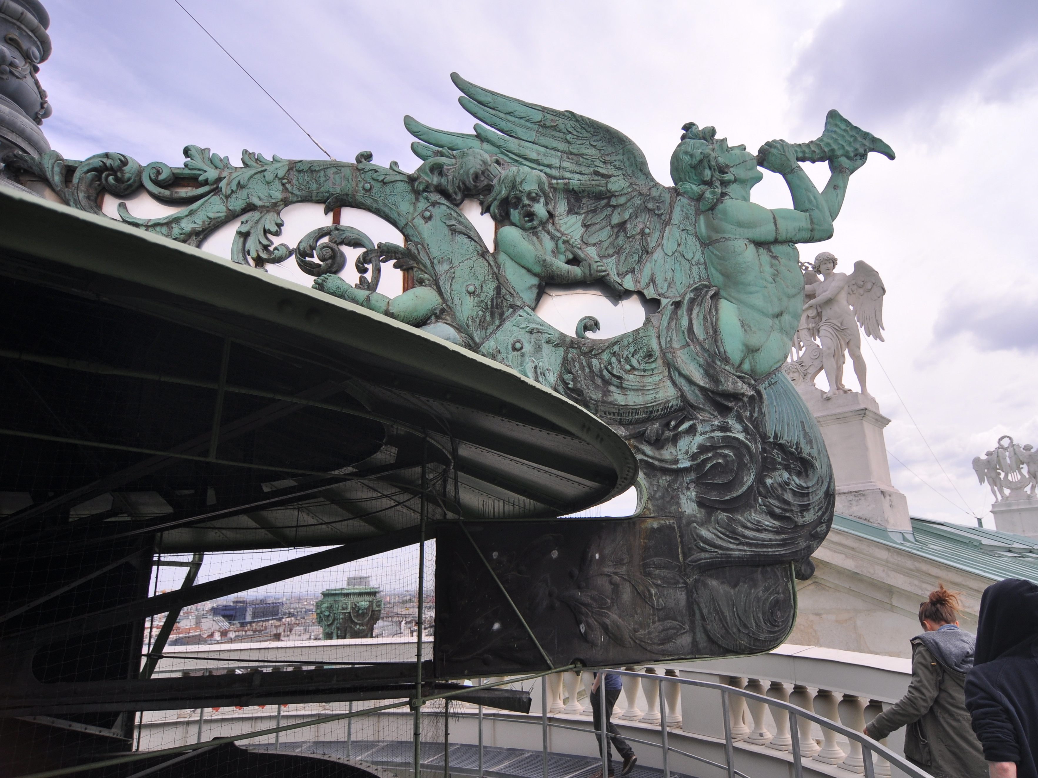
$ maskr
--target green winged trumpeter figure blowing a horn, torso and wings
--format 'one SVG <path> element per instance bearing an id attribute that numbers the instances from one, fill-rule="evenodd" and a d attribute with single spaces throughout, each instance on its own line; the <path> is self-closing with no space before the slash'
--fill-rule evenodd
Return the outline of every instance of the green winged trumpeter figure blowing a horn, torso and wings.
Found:
<path id="1" fill-rule="evenodd" d="M 619 131 L 452 78 L 464 92 L 462 107 L 486 126 L 464 135 L 407 117 L 408 130 L 426 142 L 412 144 L 417 156 L 480 148 L 544 173 L 559 192 L 559 230 L 605 263 L 611 285 L 660 301 L 686 299 L 698 284 L 715 288 L 708 294 L 715 298 L 716 351 L 755 379 L 785 361 L 800 319 L 796 244 L 831 238 L 847 182 L 869 151 L 894 159 L 885 143 L 836 111 L 818 140 L 774 140 L 757 155 L 689 122 L 671 158 L 674 186 L 664 187 Z M 828 161 L 831 177 L 821 192 L 797 164 L 804 161 Z M 793 209 L 750 201 L 761 167 L 785 178 Z"/>

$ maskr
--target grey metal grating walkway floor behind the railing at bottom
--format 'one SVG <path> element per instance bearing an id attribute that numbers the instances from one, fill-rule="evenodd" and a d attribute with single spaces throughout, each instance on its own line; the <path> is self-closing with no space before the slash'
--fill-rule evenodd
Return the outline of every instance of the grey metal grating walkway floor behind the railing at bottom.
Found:
<path id="1" fill-rule="evenodd" d="M 249 750 L 274 750 L 273 744 L 250 745 Z M 303 741 L 282 743 L 282 753 L 315 754 L 336 759 L 359 759 L 380 768 L 401 768 L 410 771 L 414 755 L 410 741 L 353 741 L 347 754 L 345 741 Z M 479 746 L 459 743 L 450 745 L 450 773 L 476 775 L 479 772 Z M 443 744 L 422 743 L 421 763 L 432 771 L 443 769 Z M 548 778 L 591 778 L 601 766 L 599 759 L 575 754 L 548 754 Z M 613 769 L 620 775 L 620 760 L 613 759 Z M 483 773 L 488 778 L 544 778 L 544 762 L 540 751 L 521 748 L 484 746 Z M 663 771 L 656 768 L 634 767 L 629 778 L 662 778 Z M 672 778 L 694 778 L 671 771 Z"/>

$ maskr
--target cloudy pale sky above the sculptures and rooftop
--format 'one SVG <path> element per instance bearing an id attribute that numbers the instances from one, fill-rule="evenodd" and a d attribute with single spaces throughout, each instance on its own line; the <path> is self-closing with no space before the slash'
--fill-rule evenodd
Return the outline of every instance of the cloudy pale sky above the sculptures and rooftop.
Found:
<path id="1" fill-rule="evenodd" d="M 913 515 L 969 523 L 990 503 L 972 457 L 1003 434 L 1038 445 L 1034 0 L 182 2 L 343 160 L 413 167 L 406 113 L 468 130 L 452 71 L 622 130 L 665 184 L 686 121 L 757 148 L 838 108 L 898 158 L 874 155 L 835 238 L 801 251 L 886 284 L 886 340 L 865 352 L 895 484 Z M 322 156 L 173 0 L 46 4 L 44 129 L 65 157 Z M 755 198 L 789 202 L 773 175 Z"/>

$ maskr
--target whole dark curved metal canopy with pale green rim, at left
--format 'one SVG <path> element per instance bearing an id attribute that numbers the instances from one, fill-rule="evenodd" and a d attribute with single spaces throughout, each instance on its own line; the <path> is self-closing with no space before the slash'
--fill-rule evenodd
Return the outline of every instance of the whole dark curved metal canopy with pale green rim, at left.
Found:
<path id="1" fill-rule="evenodd" d="M 555 517 L 637 465 L 508 367 L 328 295 L 0 189 L 0 533 L 320 546 Z"/>

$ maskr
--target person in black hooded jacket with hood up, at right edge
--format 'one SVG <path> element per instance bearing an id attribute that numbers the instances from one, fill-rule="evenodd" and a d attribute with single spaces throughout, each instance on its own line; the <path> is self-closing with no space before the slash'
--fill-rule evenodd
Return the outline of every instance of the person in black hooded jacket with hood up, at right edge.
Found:
<path id="1" fill-rule="evenodd" d="M 965 693 L 992 778 L 1038 778 L 1038 585 L 984 589 Z"/>

